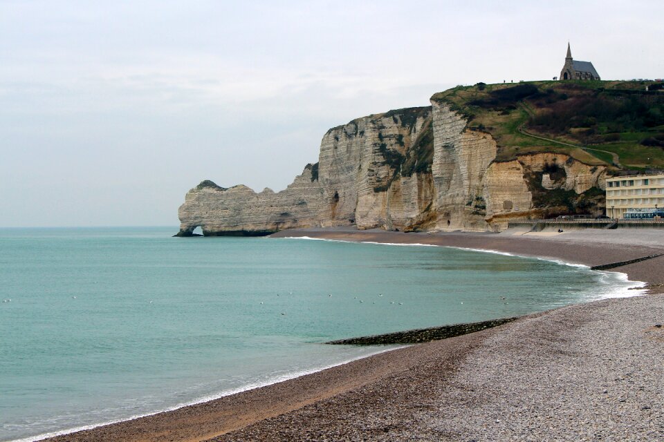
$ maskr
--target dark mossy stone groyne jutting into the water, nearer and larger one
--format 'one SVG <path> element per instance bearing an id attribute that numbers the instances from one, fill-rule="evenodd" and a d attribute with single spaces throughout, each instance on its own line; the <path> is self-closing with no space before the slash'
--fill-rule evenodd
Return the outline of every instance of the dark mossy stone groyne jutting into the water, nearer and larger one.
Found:
<path id="1" fill-rule="evenodd" d="M 468 324 L 454 324 L 443 325 L 441 327 L 430 327 L 426 329 L 406 330 L 405 332 L 394 332 L 387 334 L 378 334 L 374 336 L 361 336 L 359 338 L 331 340 L 329 343 L 332 345 L 389 345 L 389 344 L 418 344 L 428 343 L 432 340 L 440 340 L 446 338 L 454 338 L 454 336 L 461 336 L 479 332 L 483 329 L 497 327 L 510 323 L 519 318 L 501 318 L 494 320 L 484 320 L 479 323 Z"/>

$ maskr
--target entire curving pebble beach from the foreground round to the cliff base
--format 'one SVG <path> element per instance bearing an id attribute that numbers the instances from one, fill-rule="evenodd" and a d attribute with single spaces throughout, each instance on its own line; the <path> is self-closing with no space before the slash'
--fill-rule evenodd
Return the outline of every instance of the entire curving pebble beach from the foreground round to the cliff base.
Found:
<path id="1" fill-rule="evenodd" d="M 664 251 L 664 231 L 556 236 L 284 231 L 602 265 Z M 664 256 L 618 267 L 664 282 Z M 533 282 L 533 289 L 537 290 Z M 664 439 L 664 296 L 602 300 L 51 441 Z"/>

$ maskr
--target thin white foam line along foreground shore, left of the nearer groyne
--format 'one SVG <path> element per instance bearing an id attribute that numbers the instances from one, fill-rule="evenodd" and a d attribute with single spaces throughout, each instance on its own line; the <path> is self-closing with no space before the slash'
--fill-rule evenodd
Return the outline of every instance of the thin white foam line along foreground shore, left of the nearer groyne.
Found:
<path id="1" fill-rule="evenodd" d="M 47 438 L 50 438 L 50 437 L 63 436 L 64 434 L 71 434 L 71 433 L 84 431 L 84 430 L 92 430 L 93 428 L 103 427 L 104 425 L 111 425 L 112 423 L 131 421 L 132 419 L 138 419 L 138 418 L 147 417 L 147 416 L 154 416 L 155 414 L 159 414 L 159 413 L 163 413 L 163 412 L 172 412 L 174 410 L 178 410 L 179 408 L 188 407 L 190 405 L 196 405 L 196 404 L 199 404 L 199 403 L 214 401 L 215 399 L 223 398 L 225 396 L 230 396 L 231 394 L 246 392 L 248 390 L 254 390 L 255 388 L 267 387 L 268 385 L 273 385 L 273 384 L 276 384 L 276 383 L 279 383 L 279 382 L 288 381 L 289 379 L 299 378 L 300 376 L 305 376 L 307 374 L 322 372 L 325 369 L 329 369 L 329 368 L 332 368 L 332 367 L 338 367 L 339 365 L 344 365 L 344 364 L 347 364 L 347 363 L 351 363 L 353 361 L 358 361 L 359 359 L 368 358 L 369 356 L 374 356 L 375 354 L 391 352 L 393 350 L 400 349 L 400 348 L 405 348 L 405 347 L 409 347 L 409 345 L 398 345 L 398 346 L 390 347 L 388 349 L 383 348 L 383 349 L 380 349 L 380 350 L 376 350 L 376 352 L 370 352 L 370 353 L 367 353 L 367 354 L 362 354 L 361 356 L 356 356 L 354 358 L 349 358 L 349 359 L 341 361 L 339 363 L 334 363 L 334 364 L 331 364 L 331 365 L 323 365 L 323 366 L 320 366 L 320 367 L 312 367 L 310 369 L 298 370 L 298 371 L 295 371 L 295 372 L 289 372 L 288 374 L 282 374 L 280 376 L 271 377 L 271 378 L 269 378 L 268 380 L 266 380 L 264 382 L 249 383 L 249 384 L 243 385 L 242 387 L 237 387 L 237 388 L 233 388 L 233 389 L 230 389 L 230 390 L 223 390 L 223 391 L 218 392 L 216 394 L 209 394 L 209 395 L 206 395 L 206 396 L 201 396 L 199 398 L 194 399 L 194 401 L 178 403 L 176 405 L 173 405 L 172 407 L 163 408 L 163 409 L 160 409 L 160 410 L 156 410 L 154 412 L 149 412 L 149 413 L 145 413 L 145 414 L 133 414 L 132 416 L 124 417 L 122 419 L 113 419 L 113 420 L 104 421 L 104 422 L 100 422 L 100 423 L 93 423 L 93 424 L 90 424 L 90 425 L 81 425 L 79 427 L 68 428 L 67 430 L 58 430 L 58 431 L 55 431 L 55 432 L 48 432 L 48 433 L 38 434 L 37 436 L 28 436 L 28 437 L 25 437 L 25 438 L 22 438 L 22 439 L 12 439 L 8 442 L 35 442 L 35 441 L 40 441 L 42 439 L 47 439 Z"/>

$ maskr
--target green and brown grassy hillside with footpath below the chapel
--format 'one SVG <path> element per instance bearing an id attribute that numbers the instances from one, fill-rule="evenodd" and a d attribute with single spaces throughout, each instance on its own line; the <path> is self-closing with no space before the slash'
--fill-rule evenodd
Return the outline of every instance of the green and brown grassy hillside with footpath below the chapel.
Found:
<path id="1" fill-rule="evenodd" d="M 661 81 L 478 83 L 431 99 L 468 117 L 472 130 L 490 133 L 497 160 L 557 152 L 586 164 L 664 168 Z"/>

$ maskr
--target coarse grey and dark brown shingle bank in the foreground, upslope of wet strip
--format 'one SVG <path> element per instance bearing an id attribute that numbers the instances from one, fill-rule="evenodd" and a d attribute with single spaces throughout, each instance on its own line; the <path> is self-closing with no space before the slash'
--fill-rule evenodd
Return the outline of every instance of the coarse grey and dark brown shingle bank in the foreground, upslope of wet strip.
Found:
<path id="1" fill-rule="evenodd" d="M 214 441 L 664 440 L 663 318 L 663 295 L 531 316 L 453 374 L 434 358 Z"/>

